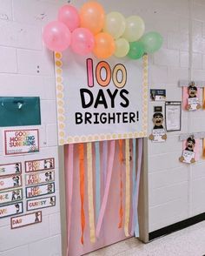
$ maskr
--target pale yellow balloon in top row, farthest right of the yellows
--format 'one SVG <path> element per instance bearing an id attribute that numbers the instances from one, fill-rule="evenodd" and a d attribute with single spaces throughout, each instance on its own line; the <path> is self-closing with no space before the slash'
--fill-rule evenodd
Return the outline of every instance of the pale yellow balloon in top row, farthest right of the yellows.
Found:
<path id="1" fill-rule="evenodd" d="M 138 41 L 145 30 L 145 24 L 142 17 L 130 16 L 126 19 L 126 29 L 122 35 L 129 42 Z"/>

